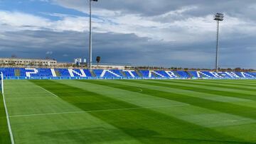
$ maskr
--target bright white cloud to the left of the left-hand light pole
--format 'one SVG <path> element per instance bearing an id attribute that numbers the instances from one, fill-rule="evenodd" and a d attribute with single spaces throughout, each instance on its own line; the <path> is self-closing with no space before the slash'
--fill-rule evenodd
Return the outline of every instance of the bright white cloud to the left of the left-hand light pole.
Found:
<path id="1" fill-rule="evenodd" d="M 18 21 L 17 21 L 18 20 Z M 48 31 L 85 31 L 87 18 L 63 16 L 59 21 L 53 21 L 41 16 L 22 12 L 0 11 L 1 31 L 48 30 Z"/>

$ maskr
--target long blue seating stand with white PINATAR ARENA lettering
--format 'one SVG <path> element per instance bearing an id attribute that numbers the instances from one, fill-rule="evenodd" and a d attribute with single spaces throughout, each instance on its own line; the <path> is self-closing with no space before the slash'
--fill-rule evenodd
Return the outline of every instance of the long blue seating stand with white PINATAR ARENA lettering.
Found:
<path id="1" fill-rule="evenodd" d="M 17 71 L 19 76 L 15 74 Z M 50 68 L 0 68 L 0 72 L 6 79 L 256 79 L 256 72 L 93 70 L 92 74 L 90 70 Z"/>

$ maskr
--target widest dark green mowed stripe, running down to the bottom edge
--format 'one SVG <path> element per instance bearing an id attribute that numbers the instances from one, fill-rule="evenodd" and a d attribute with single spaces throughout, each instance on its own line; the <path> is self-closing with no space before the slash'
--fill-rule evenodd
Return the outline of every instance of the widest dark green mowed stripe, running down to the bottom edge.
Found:
<path id="1" fill-rule="evenodd" d="M 43 82 L 45 84 L 42 84 L 42 82 L 36 82 L 36 84 L 39 84 L 44 89 L 58 95 L 61 99 L 78 106 L 84 111 L 87 110 L 87 106 L 81 106 L 79 103 L 84 97 L 90 96 L 90 94 L 97 97 L 96 101 L 100 101 L 102 98 L 102 101 L 104 100 L 108 103 L 109 105 L 107 106 L 107 109 L 117 106 L 117 104 L 112 102 L 114 101 L 113 99 L 108 99 L 109 101 L 106 101 L 107 99 L 101 94 L 97 94 L 97 92 L 89 92 L 85 89 L 78 89 L 65 84 L 58 84 L 53 81 Z M 71 89 L 75 90 L 75 92 L 72 93 Z M 99 92 L 102 91 L 101 87 L 97 87 L 97 89 Z M 68 93 L 68 99 L 66 98 L 66 93 Z M 124 101 L 118 102 L 120 106 L 133 106 Z M 99 106 L 97 102 L 90 100 L 83 105 L 89 103 L 91 103 L 90 106 L 92 107 Z M 181 121 L 180 119 L 166 116 L 149 109 L 97 111 L 90 114 L 119 128 L 119 130 L 131 135 L 142 143 L 242 143 L 238 138 L 223 135 L 222 133 L 210 130 L 210 128 L 197 126 L 193 123 Z"/>

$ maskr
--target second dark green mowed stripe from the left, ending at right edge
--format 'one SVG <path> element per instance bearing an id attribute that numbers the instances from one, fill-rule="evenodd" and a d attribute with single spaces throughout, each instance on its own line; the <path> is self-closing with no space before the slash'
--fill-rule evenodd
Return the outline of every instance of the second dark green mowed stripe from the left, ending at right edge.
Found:
<path id="1" fill-rule="evenodd" d="M 201 99 L 201 98 L 193 97 L 193 96 L 186 95 L 186 94 L 163 92 L 161 90 L 156 90 L 156 89 L 147 89 L 146 87 L 141 87 L 139 84 L 134 84 L 134 82 L 137 83 L 137 81 L 133 81 L 133 80 L 128 81 L 128 82 L 130 82 L 129 85 L 127 82 L 123 82 L 123 81 L 117 81 L 118 82 L 117 84 L 115 84 L 114 81 L 106 82 L 106 81 L 96 81 L 95 80 L 95 81 L 83 81 L 83 82 L 107 85 L 108 87 L 114 87 L 117 89 L 125 89 L 127 91 L 130 91 L 130 89 L 135 89 L 137 87 L 140 87 L 141 89 L 143 89 L 143 91 L 141 92 L 142 94 L 157 96 L 157 97 L 161 97 L 164 99 L 170 99 L 173 101 L 179 101 L 182 103 L 191 104 L 193 106 L 199 106 L 199 107 L 202 107 L 205 109 L 211 109 L 211 110 L 220 111 L 223 113 L 230 113 L 230 114 L 234 114 L 234 115 L 242 116 L 242 117 L 246 117 L 246 118 L 253 118 L 256 120 L 256 109 L 253 109 L 251 107 L 239 106 L 236 104 L 229 104 L 229 103 L 220 102 L 220 101 L 212 101 L 212 100 L 208 100 L 208 99 Z M 132 86 L 132 85 L 134 85 L 134 86 Z M 127 86 L 129 86 L 129 87 L 127 87 Z"/>

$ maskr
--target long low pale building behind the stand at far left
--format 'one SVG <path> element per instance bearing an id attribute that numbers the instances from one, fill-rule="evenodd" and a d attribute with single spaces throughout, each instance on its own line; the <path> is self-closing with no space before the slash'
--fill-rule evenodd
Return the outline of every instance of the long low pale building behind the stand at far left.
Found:
<path id="1" fill-rule="evenodd" d="M 56 60 L 0 58 L 0 65 L 31 65 L 31 66 L 55 66 Z"/>

